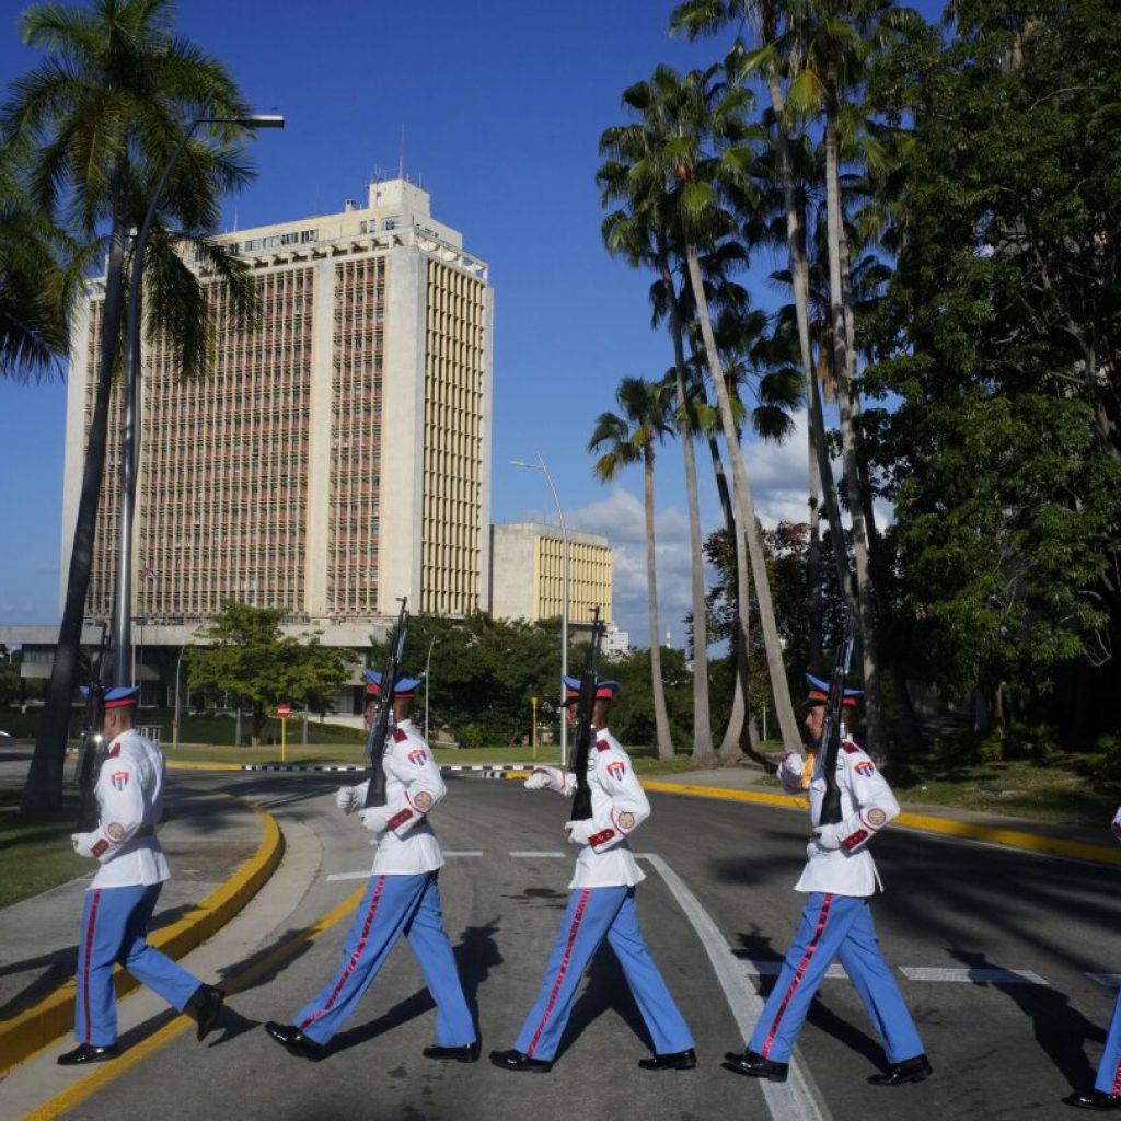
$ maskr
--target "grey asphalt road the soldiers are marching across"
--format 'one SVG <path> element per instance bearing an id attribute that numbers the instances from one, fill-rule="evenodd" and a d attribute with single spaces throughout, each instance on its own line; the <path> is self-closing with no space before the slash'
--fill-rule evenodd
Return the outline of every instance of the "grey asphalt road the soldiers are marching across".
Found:
<path id="1" fill-rule="evenodd" d="M 349 915 L 343 905 L 363 884 L 370 849 L 361 827 L 334 809 L 335 780 L 254 773 L 175 781 L 262 805 L 288 837 L 286 861 L 307 870 L 304 880 L 293 879 L 300 884 L 293 898 L 271 901 L 279 921 L 262 912 L 254 928 L 247 912 L 253 933 L 225 947 L 235 956 L 223 958 L 220 973 L 243 975 L 333 909 Z M 516 782 L 453 778 L 448 785 L 434 816 L 448 853 L 441 892 L 485 1053 L 512 1045 L 540 984 L 572 871 L 572 851 L 560 843 L 566 804 Z M 1114 998 L 1109 979 L 1092 974 L 1121 967 L 1114 870 L 889 830 L 876 847 L 888 889 L 873 905 L 876 920 L 936 1075 L 895 1090 L 868 1085 L 882 1053 L 840 974 L 814 1002 L 798 1077 L 775 1086 L 719 1064 L 725 1050 L 742 1047 L 793 934 L 803 900 L 790 888 L 802 867 L 805 817 L 675 795 L 654 794 L 651 804 L 652 817 L 634 839 L 648 876 L 638 889 L 639 914 L 696 1037 L 695 1071 L 636 1067 L 649 1048 L 608 949 L 592 965 L 592 983 L 548 1075 L 498 1071 L 485 1058 L 473 1066 L 424 1059 L 433 1004 L 404 944 L 331 1055 L 318 1064 L 293 1058 L 260 1025 L 290 1020 L 330 979 L 349 925 L 342 917 L 295 956 L 258 965 L 263 974 L 242 982 L 225 1030 L 206 1044 L 185 1031 L 151 1046 L 149 1037 L 169 1019 L 155 1016 L 123 1040 L 135 1060 L 119 1060 L 117 1076 L 65 1115 L 119 1121 L 142 1109 L 247 1121 L 1057 1118 L 1067 1113 L 1059 1099 L 1069 1087 L 1091 1082 Z M 222 942 L 220 935 L 204 948 L 222 953 Z"/>

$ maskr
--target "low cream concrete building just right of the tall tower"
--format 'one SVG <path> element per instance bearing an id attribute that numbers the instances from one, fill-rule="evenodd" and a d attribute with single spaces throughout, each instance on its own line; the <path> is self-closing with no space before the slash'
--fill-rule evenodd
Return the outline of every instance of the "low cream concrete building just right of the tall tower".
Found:
<path id="1" fill-rule="evenodd" d="M 568 536 L 568 622 L 611 619 L 611 546 L 595 534 Z M 558 619 L 564 603 L 564 538 L 556 526 L 491 527 L 491 614 L 498 619 Z"/>

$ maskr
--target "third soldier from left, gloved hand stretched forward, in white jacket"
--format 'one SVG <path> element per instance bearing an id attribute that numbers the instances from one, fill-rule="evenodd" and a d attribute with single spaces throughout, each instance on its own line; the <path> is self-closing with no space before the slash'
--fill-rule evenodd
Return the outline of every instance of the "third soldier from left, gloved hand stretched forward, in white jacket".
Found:
<path id="1" fill-rule="evenodd" d="M 576 726 L 580 682 L 566 677 L 565 719 Z M 580 845 L 572 895 L 549 954 L 545 981 L 511 1050 L 491 1051 L 506 1071 L 546 1072 L 572 1012 L 584 967 L 604 938 L 614 951 L 634 1002 L 646 1021 L 655 1054 L 639 1060 L 643 1071 L 687 1071 L 696 1066 L 693 1036 L 650 956 L 638 925 L 634 884 L 646 879 L 630 850 L 629 837 L 650 816 L 650 803 L 630 758 L 608 731 L 606 714 L 618 692 L 615 682 L 600 682 L 592 726 L 595 741 L 587 760 L 592 817 L 566 822 L 567 840 Z M 576 776 L 555 767 L 535 767 L 526 788 L 548 788 L 565 797 L 576 790 Z"/>

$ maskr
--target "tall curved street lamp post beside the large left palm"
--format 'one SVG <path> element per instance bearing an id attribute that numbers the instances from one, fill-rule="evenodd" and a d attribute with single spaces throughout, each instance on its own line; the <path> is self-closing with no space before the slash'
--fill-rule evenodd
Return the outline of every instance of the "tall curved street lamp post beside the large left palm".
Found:
<path id="1" fill-rule="evenodd" d="M 278 114 L 253 113 L 247 117 L 210 117 L 214 93 L 203 100 L 202 109 L 187 126 L 178 147 L 167 161 L 156 189 L 152 192 L 136 241 L 132 243 L 132 274 L 129 278 L 129 300 L 126 312 L 126 336 L 128 340 L 128 367 L 124 377 L 123 425 L 121 433 L 121 541 L 117 572 L 117 618 L 113 621 L 115 641 L 113 643 L 114 684 L 129 678 L 126 674 L 131 663 L 132 646 L 132 521 L 136 509 L 136 470 L 139 456 L 137 442 L 137 391 L 140 383 L 140 281 L 143 276 L 143 254 L 156 220 L 160 196 L 172 177 L 195 130 L 201 124 L 243 124 L 253 129 L 282 129 L 284 118 Z"/>

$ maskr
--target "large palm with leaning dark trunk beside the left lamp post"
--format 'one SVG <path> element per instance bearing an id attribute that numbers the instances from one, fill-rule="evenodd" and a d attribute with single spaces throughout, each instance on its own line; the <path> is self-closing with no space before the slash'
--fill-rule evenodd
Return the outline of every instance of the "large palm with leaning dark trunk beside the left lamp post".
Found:
<path id="1" fill-rule="evenodd" d="M 83 245 L 106 252 L 93 413 L 67 574 L 58 647 L 47 705 L 24 789 L 25 810 L 62 800 L 66 731 L 77 670 L 90 582 L 94 529 L 104 471 L 110 390 L 119 365 L 130 231 L 139 228 L 155 184 L 183 139 L 186 122 L 204 111 L 237 119 L 247 113 L 225 68 L 174 35 L 172 0 L 94 0 L 90 7 L 57 3 L 29 8 L 20 18 L 25 41 L 47 57 L 17 78 L 0 113 L 4 136 L 34 152 L 29 193 Z M 161 196 L 160 223 L 176 235 L 198 238 L 216 229 L 219 198 L 249 173 L 238 141 L 244 130 L 207 123 L 195 135 Z M 163 277 L 174 269 L 167 242 L 150 242 Z M 212 260 L 221 257 L 217 251 Z M 225 268 L 237 279 L 235 265 Z M 180 272 L 182 278 L 182 272 Z M 187 303 L 165 299 L 166 284 L 150 293 L 149 327 L 173 340 L 205 335 Z M 180 291 L 182 295 L 182 291 Z M 182 344 L 180 344 L 182 345 Z M 205 352 L 205 348 L 186 353 Z"/>

